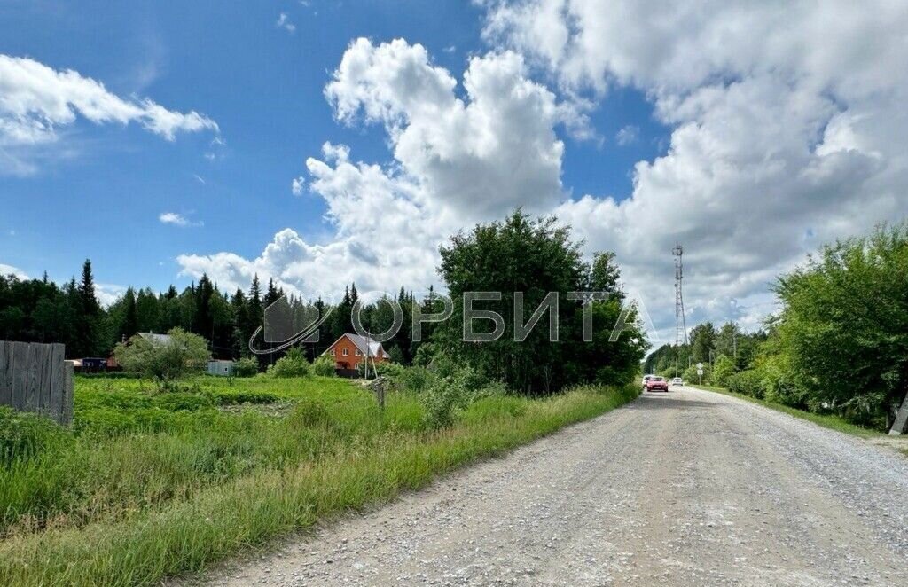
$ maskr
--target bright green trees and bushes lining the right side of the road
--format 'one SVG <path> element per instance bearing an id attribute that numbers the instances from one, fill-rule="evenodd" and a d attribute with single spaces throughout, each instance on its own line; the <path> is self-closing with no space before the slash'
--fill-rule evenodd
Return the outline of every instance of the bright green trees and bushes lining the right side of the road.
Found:
<path id="1" fill-rule="evenodd" d="M 908 224 L 825 246 L 775 283 L 781 310 L 757 333 L 703 323 L 663 346 L 647 373 L 702 383 L 817 416 L 887 431 L 908 393 Z M 688 364 L 692 365 L 688 367 Z M 832 419 L 825 420 L 824 416 Z M 825 424 L 824 424 L 825 425 Z"/>

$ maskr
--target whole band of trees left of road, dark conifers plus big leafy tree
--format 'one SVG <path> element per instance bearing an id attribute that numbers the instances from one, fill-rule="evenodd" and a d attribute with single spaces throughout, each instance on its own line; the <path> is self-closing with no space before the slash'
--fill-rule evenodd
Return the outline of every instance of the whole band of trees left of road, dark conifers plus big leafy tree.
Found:
<path id="1" fill-rule="evenodd" d="M 532 219 L 518 210 L 501 222 L 478 224 L 453 235 L 440 247 L 440 256 L 439 274 L 454 306 L 452 316 L 445 322 L 423 323 L 420 339 L 414 340 L 410 328 L 414 308 L 419 304 L 421 313 L 438 314 L 446 304 L 431 287 L 422 299 L 401 287 L 393 301 L 400 304 L 404 325 L 383 343 L 394 363 L 447 363 L 469 369 L 477 381 L 503 383 L 523 393 L 553 393 L 579 383 L 622 384 L 639 371 L 648 343 L 636 309 L 625 308 L 615 255 L 603 252 L 585 260 L 570 227 L 555 217 Z M 601 296 L 572 299 L 570 295 L 591 291 Z M 500 317 L 502 332 L 497 340 L 463 340 L 465 292 L 500 293 L 497 300 L 476 304 Z M 518 335 L 530 316 L 546 306 L 550 293 L 558 294 L 557 305 L 546 310 L 548 316 L 540 317 L 534 329 Z M 159 294 L 130 287 L 105 308 L 94 291 L 92 264 L 85 261 L 81 280 L 63 286 L 46 275 L 32 280 L 0 276 L 0 338 L 64 343 L 71 358 L 105 357 L 135 333 L 180 328 L 202 336 L 214 356 L 239 358 L 250 354 L 248 343 L 262 324 L 264 309 L 283 295 L 271 280 L 262 287 L 258 276 L 248 291 L 230 294 L 202 275 L 183 292 L 173 285 Z M 332 311 L 319 326 L 319 342 L 301 343 L 311 362 L 343 333 L 354 332 L 350 311 L 360 299 L 355 284 L 333 306 L 321 299 L 293 295 L 284 299 L 286 303 L 274 307 L 291 316 L 291 322 L 304 311 L 314 309 L 320 315 Z M 383 333 L 394 322 L 390 302 L 386 296 L 363 304 L 361 321 L 371 333 Z M 554 341 L 548 328 L 553 319 L 558 320 Z M 609 335 L 619 322 L 623 330 L 617 341 L 610 342 Z M 496 324 L 485 320 L 477 321 L 477 326 L 494 329 Z M 260 348 L 268 348 L 261 336 L 258 340 Z M 262 355 L 260 363 L 273 363 L 281 354 Z"/>

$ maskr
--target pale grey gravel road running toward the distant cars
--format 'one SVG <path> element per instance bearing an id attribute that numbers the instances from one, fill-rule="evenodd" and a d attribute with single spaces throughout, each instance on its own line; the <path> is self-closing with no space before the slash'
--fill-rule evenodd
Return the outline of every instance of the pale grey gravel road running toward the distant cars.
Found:
<path id="1" fill-rule="evenodd" d="M 209 580 L 908 585 L 908 459 L 673 388 Z"/>

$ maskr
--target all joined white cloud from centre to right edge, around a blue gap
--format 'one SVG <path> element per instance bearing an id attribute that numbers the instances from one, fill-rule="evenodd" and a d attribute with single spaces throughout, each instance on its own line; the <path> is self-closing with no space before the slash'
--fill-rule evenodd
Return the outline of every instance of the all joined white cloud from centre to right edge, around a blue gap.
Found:
<path id="1" fill-rule="evenodd" d="M 587 253 L 615 250 L 659 328 L 674 322 L 676 242 L 688 323 L 755 327 L 776 274 L 908 214 L 908 11 L 896 3 L 481 4 L 492 50 L 459 78 L 402 39 L 358 39 L 341 57 L 325 96 L 341 124 L 380 128 L 390 161 L 338 144 L 306 161 L 330 244 L 288 229 L 255 259 L 184 255 L 183 272 L 242 286 L 258 272 L 306 294 L 418 286 L 437 279 L 449 234 L 522 205 L 572 224 Z M 634 165 L 628 197 L 571 194 L 559 134 L 583 134 L 614 86 L 647 96 L 667 152 Z"/>

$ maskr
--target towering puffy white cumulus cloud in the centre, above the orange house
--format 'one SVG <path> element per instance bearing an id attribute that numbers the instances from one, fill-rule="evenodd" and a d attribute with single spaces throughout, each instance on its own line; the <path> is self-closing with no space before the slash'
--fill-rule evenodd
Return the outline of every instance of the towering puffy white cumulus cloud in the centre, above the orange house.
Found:
<path id="1" fill-rule="evenodd" d="M 360 291 L 425 287 L 438 282 L 439 244 L 464 225 L 564 201 L 555 127 L 571 107 L 531 82 L 513 52 L 473 57 L 465 98 L 457 85 L 421 45 L 354 41 L 325 95 L 341 123 L 379 124 L 393 163 L 355 162 L 348 146 L 323 144 L 306 170 L 311 193 L 327 204 L 331 244 L 286 229 L 256 259 L 183 255 L 183 273 L 231 287 L 248 286 L 257 273 L 307 295 L 342 293 L 351 281 Z M 291 186 L 301 191 L 302 178 Z"/>

